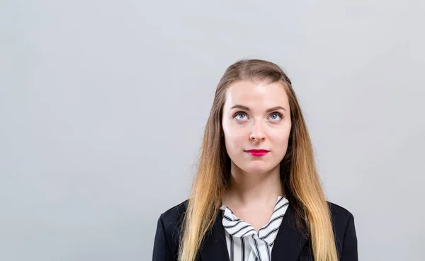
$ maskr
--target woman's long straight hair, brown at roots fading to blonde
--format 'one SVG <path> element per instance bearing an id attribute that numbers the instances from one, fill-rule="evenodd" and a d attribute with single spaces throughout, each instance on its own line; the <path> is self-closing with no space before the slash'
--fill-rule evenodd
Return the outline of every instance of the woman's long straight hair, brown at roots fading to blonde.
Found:
<path id="1" fill-rule="evenodd" d="M 278 82 L 285 88 L 292 122 L 288 150 L 280 163 L 280 180 L 283 182 L 285 197 L 295 211 L 297 224 L 305 224 L 310 233 L 314 260 L 336 261 L 329 206 L 317 175 L 312 142 L 292 83 L 278 65 L 259 59 L 243 59 L 232 64 L 217 85 L 200 149 L 198 170 L 183 220 L 179 261 L 195 260 L 227 189 L 230 160 L 222 131 L 222 107 L 227 88 L 242 80 Z"/>

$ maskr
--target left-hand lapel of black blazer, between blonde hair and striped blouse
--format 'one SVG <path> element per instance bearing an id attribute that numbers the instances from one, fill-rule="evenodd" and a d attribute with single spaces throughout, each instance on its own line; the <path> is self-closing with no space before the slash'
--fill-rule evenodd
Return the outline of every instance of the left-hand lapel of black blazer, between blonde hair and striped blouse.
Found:
<path id="1" fill-rule="evenodd" d="M 203 247 L 200 249 L 200 260 L 230 261 L 221 211 L 218 211 L 212 229 L 205 235 Z"/>

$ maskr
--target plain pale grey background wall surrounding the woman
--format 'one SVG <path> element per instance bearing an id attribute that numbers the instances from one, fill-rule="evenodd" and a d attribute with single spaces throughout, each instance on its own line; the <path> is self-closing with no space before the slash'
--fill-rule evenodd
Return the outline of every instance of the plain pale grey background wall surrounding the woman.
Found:
<path id="1" fill-rule="evenodd" d="M 152 259 L 244 57 L 293 80 L 360 259 L 424 260 L 424 7 L 1 1 L 0 260 Z"/>

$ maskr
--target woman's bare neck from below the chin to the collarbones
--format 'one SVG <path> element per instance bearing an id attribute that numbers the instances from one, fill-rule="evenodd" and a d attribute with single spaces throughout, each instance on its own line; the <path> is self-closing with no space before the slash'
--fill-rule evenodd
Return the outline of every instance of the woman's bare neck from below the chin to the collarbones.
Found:
<path id="1" fill-rule="evenodd" d="M 264 205 L 283 196 L 279 166 L 266 173 L 246 173 L 232 163 L 229 187 L 223 197 L 226 205 Z"/>

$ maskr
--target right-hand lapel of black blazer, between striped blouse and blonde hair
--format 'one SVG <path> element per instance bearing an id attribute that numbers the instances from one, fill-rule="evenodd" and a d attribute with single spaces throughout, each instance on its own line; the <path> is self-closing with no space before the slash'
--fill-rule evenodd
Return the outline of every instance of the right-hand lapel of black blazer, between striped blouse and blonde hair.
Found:
<path id="1" fill-rule="evenodd" d="M 295 213 L 289 204 L 285 216 L 283 216 L 282 224 L 273 249 L 271 250 L 272 261 L 294 261 L 297 260 L 302 248 L 307 243 L 307 238 L 302 236 L 302 232 L 297 229 L 295 224 Z"/>

